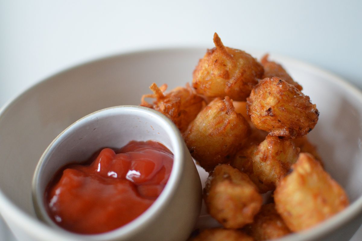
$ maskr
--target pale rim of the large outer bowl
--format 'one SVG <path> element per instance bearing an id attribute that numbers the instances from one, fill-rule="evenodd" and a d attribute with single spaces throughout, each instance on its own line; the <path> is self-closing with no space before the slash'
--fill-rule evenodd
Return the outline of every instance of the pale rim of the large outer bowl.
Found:
<path id="1" fill-rule="evenodd" d="M 10 98 L 5 104 L 0 107 L 0 119 L 4 115 L 5 112 L 8 111 L 8 109 L 11 108 L 13 104 L 17 102 L 17 100 L 24 97 L 24 95 L 27 92 L 30 92 L 31 90 L 37 88 L 40 85 L 43 85 L 47 81 L 51 81 L 51 79 L 62 75 L 63 73 L 70 72 L 72 70 L 75 70 L 80 67 L 84 67 L 86 65 L 90 64 L 96 64 L 98 62 L 103 62 L 107 60 L 111 60 L 113 58 L 118 57 L 127 57 L 127 56 L 134 56 L 134 55 L 142 55 L 142 54 L 149 54 L 149 53 L 160 53 L 160 52 L 180 52 L 180 51 L 191 51 L 191 52 L 205 52 L 205 50 L 208 47 L 206 46 L 196 46 L 196 47 L 190 47 L 190 46 L 179 46 L 179 47 L 159 47 L 159 48 L 144 48 L 140 50 L 131 50 L 131 51 L 125 51 L 121 53 L 115 53 L 112 55 L 105 55 L 103 57 L 98 57 L 96 59 L 90 60 L 90 61 L 84 61 L 83 63 L 73 65 L 71 67 L 65 68 L 64 70 L 61 70 L 37 83 L 30 86 L 29 88 L 21 91 L 18 95 L 14 96 L 13 98 Z M 248 51 L 248 50 L 247 50 Z M 249 52 L 255 56 L 261 56 L 262 53 L 268 52 L 268 51 L 257 51 L 257 50 L 249 50 Z M 288 62 L 288 65 L 298 66 L 298 68 L 303 70 L 308 70 L 308 72 L 312 72 L 315 74 L 318 74 L 320 76 L 327 77 L 329 82 L 333 82 L 337 86 L 341 86 L 342 89 L 345 89 L 350 93 L 350 95 L 353 95 L 356 99 L 359 100 L 359 102 L 362 103 L 362 91 L 355 87 L 352 83 L 347 82 L 343 78 L 339 77 L 337 74 L 334 74 L 332 72 L 329 72 L 327 70 L 324 70 L 322 68 L 316 67 L 312 64 L 304 63 L 303 61 L 294 59 L 292 57 L 286 57 L 284 55 L 279 55 L 277 53 L 269 52 L 270 57 L 273 57 L 273 59 L 278 60 L 280 62 Z M 35 219 L 34 217 L 27 214 L 25 211 L 22 211 L 20 207 L 15 205 L 10 201 L 10 199 L 3 193 L 3 191 L 0 189 L 0 211 L 1 213 L 7 214 L 7 217 L 10 217 L 12 221 L 16 221 L 19 225 L 21 225 L 22 229 L 29 232 L 29 233 L 38 233 L 43 232 L 45 235 L 51 235 L 54 231 L 50 230 L 49 227 L 47 227 L 45 224 L 43 224 L 41 221 Z M 309 240 L 312 238 L 320 238 L 329 232 L 333 231 L 334 229 L 337 229 L 341 227 L 342 225 L 348 223 L 352 219 L 356 218 L 357 216 L 362 214 L 362 195 L 358 197 L 352 204 L 350 204 L 349 207 L 347 207 L 345 210 L 341 211 L 337 215 L 334 215 L 332 218 L 324 221 L 323 223 L 316 225 L 315 227 L 308 229 L 307 231 L 303 231 L 300 233 L 293 233 L 289 236 L 283 237 L 280 239 L 280 241 L 302 241 L 302 240 Z M 7 220 L 5 220 L 7 222 Z M 66 235 L 66 234 L 65 234 Z M 83 236 L 81 236 L 83 237 Z M 54 240 L 59 240 L 58 237 L 54 236 Z M 74 236 L 72 236 L 74 238 Z"/>

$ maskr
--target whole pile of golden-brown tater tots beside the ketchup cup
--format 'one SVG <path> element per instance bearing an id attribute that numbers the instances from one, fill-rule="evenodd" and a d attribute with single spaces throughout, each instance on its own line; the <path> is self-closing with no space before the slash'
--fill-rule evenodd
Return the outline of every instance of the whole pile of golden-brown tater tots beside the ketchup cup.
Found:
<path id="1" fill-rule="evenodd" d="M 176 124 L 209 172 L 203 199 L 223 228 L 200 230 L 190 240 L 270 240 L 347 207 L 344 189 L 306 137 L 319 112 L 302 86 L 268 55 L 259 62 L 225 47 L 216 33 L 214 44 L 192 86 L 166 92 L 166 84 L 153 83 L 153 94 L 141 100 Z M 269 197 L 264 204 L 262 194 Z"/>

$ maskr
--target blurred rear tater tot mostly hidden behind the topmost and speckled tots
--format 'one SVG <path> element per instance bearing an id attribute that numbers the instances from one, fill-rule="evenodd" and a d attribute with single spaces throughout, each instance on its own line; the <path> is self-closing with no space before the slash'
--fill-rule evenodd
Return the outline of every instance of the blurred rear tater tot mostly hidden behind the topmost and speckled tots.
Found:
<path id="1" fill-rule="evenodd" d="M 294 85 L 299 91 L 303 89 L 292 77 L 285 71 L 282 65 L 268 60 L 269 55 L 266 54 L 261 58 L 261 64 L 264 67 L 263 78 L 278 77 L 285 80 L 287 83 Z"/>

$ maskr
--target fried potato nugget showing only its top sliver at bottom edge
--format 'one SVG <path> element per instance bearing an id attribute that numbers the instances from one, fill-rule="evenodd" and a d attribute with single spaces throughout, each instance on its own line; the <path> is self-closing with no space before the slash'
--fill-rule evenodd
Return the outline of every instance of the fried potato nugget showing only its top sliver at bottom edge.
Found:
<path id="1" fill-rule="evenodd" d="M 236 229 L 209 228 L 189 241 L 254 241 L 252 237 Z"/>

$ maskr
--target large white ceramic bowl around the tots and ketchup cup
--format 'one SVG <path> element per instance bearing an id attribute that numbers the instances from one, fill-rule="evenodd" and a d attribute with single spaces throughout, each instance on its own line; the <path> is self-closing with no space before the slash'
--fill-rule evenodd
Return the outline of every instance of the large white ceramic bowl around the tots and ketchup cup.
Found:
<path id="1" fill-rule="evenodd" d="M 96 60 L 38 83 L 3 107 L 0 212 L 19 240 L 36 240 L 53 232 L 36 218 L 31 201 L 33 172 L 49 143 L 89 113 L 111 106 L 138 105 L 142 94 L 151 93 L 148 86 L 152 82 L 167 83 L 169 89 L 190 82 L 205 51 L 154 50 Z M 351 201 L 350 207 L 328 221 L 282 240 L 350 240 L 362 223 L 362 94 L 311 65 L 273 54 L 270 59 L 281 62 L 317 105 L 320 118 L 308 137 L 317 144 L 327 171 L 344 186 Z M 205 180 L 206 173 L 200 175 Z M 199 227 L 207 225 L 202 219 L 198 223 Z"/>

